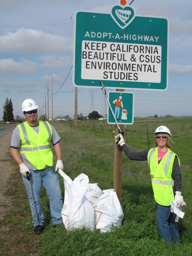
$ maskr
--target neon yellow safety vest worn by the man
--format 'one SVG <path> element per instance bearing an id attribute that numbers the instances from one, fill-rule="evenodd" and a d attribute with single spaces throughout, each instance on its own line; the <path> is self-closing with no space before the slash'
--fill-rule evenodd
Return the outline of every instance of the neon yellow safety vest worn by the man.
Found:
<path id="1" fill-rule="evenodd" d="M 20 146 L 21 159 L 29 161 L 37 170 L 47 166 L 53 166 L 53 153 L 50 141 L 52 128 L 47 121 L 39 121 L 39 134 L 24 122 L 18 124 L 20 138 L 23 145 Z"/>

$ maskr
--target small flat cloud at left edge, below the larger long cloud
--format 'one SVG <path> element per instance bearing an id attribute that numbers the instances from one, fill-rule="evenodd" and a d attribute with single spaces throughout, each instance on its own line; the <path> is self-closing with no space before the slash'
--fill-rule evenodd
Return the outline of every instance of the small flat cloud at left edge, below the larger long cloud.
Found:
<path id="1" fill-rule="evenodd" d="M 37 64 L 31 60 L 24 59 L 23 62 L 16 62 L 13 59 L 0 59 L 0 75 L 27 75 L 34 74 Z"/>

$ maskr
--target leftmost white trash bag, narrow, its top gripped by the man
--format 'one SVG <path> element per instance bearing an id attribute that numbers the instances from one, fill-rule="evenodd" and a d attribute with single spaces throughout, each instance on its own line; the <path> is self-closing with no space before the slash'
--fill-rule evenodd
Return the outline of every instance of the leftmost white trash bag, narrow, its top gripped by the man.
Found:
<path id="1" fill-rule="evenodd" d="M 69 209 L 71 207 L 71 202 L 72 202 L 70 184 L 73 181 L 62 170 L 59 169 L 58 171 L 59 171 L 59 174 L 64 179 L 65 197 L 64 197 L 64 203 L 63 203 L 63 208 L 62 208 L 61 214 L 62 214 L 63 224 L 64 224 L 65 228 L 67 228 L 68 220 L 69 220 Z"/>

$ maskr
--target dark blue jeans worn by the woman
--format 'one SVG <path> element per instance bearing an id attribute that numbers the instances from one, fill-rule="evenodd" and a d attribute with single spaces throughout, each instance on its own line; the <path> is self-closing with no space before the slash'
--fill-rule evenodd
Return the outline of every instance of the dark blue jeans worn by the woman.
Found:
<path id="1" fill-rule="evenodd" d="M 171 212 L 171 206 L 157 204 L 157 225 L 163 239 L 167 242 L 179 242 L 179 233 L 175 217 Z"/>

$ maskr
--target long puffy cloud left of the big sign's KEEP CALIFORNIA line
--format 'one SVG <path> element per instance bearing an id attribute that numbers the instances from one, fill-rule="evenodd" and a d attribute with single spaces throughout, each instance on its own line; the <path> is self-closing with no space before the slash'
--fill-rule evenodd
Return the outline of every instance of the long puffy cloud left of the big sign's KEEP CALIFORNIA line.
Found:
<path id="1" fill-rule="evenodd" d="M 62 36 L 41 30 L 20 28 L 14 33 L 9 32 L 5 36 L 0 36 L 0 52 L 59 53 L 62 44 Z"/>

